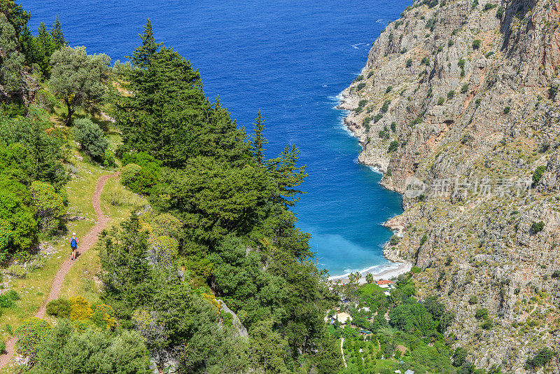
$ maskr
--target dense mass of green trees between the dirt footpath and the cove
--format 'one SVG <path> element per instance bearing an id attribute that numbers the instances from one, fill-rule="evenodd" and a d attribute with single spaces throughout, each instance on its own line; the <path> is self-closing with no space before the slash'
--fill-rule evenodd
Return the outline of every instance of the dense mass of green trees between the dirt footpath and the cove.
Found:
<path id="1" fill-rule="evenodd" d="M 155 43 L 149 21 L 141 40 L 113 115 L 122 182 L 153 210 L 103 234 L 104 299 L 149 349 L 174 352 L 183 373 L 336 372 L 340 356 L 323 322 L 335 298 L 288 209 L 307 175 L 297 148 L 267 160 L 260 113 L 248 141 L 204 97 L 190 62 Z M 248 338 L 224 328 L 231 317 L 213 295 Z"/>

